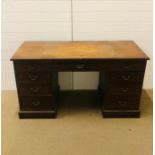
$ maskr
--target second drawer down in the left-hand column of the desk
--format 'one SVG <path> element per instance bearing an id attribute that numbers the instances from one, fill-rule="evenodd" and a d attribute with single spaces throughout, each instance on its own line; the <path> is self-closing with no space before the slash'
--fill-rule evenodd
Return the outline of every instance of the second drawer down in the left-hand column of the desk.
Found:
<path id="1" fill-rule="evenodd" d="M 52 82 L 52 73 L 17 72 L 16 79 L 23 83 L 50 83 Z"/>

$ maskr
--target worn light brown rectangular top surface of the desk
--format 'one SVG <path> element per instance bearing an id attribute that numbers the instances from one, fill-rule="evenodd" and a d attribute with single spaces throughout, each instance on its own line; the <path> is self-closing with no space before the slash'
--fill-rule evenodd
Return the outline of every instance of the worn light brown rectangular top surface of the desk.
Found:
<path id="1" fill-rule="evenodd" d="M 11 60 L 149 59 L 133 41 L 27 41 Z"/>

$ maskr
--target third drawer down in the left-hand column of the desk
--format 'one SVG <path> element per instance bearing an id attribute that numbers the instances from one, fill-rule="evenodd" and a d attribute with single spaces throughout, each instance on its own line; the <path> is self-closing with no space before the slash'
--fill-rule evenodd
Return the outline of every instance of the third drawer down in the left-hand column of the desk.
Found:
<path id="1" fill-rule="evenodd" d="M 18 84 L 20 96 L 52 95 L 51 84 Z"/>

